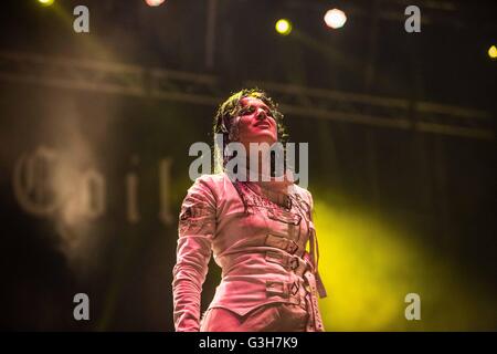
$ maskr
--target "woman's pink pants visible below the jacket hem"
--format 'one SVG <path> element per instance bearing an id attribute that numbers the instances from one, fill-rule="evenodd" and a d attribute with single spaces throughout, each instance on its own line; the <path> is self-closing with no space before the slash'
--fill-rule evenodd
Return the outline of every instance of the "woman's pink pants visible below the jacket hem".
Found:
<path id="1" fill-rule="evenodd" d="M 223 308 L 208 310 L 200 332 L 305 332 L 309 313 L 305 306 L 269 303 L 241 316 Z"/>

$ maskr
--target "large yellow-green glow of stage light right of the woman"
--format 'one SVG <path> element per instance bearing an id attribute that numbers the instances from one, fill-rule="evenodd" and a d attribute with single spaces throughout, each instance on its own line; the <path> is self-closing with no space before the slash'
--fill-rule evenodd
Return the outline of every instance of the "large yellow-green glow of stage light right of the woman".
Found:
<path id="1" fill-rule="evenodd" d="M 480 294 L 472 291 L 466 280 L 450 275 L 459 271 L 459 264 L 435 257 L 434 249 L 417 235 L 421 229 L 392 215 L 380 217 L 374 209 L 337 207 L 329 200 L 315 194 L 319 273 L 331 293 L 319 299 L 327 331 L 457 331 L 470 329 L 473 313 L 491 306 L 491 296 L 479 298 L 480 303 Z M 422 319 L 433 319 L 422 327 L 425 320 L 404 317 L 404 296 L 410 292 L 421 295 Z M 441 304 L 465 311 L 441 310 Z"/>

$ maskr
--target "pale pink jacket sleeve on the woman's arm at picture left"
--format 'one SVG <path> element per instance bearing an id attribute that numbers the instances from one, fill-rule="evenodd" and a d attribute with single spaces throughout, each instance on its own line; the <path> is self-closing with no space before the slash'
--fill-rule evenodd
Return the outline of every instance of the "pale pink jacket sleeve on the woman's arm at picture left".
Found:
<path id="1" fill-rule="evenodd" d="M 198 332 L 202 284 L 215 233 L 215 198 L 202 177 L 188 190 L 178 223 L 177 262 L 172 270 L 177 332 Z"/>

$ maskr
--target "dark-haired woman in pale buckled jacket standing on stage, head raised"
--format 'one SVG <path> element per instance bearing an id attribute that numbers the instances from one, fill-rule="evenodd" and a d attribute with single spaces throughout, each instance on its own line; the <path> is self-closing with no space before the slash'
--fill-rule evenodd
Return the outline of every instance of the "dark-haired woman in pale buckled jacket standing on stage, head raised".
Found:
<path id="1" fill-rule="evenodd" d="M 250 174 L 251 143 L 283 142 L 283 115 L 264 92 L 242 90 L 220 105 L 214 133 L 223 135 L 221 171 L 197 178 L 180 211 L 172 281 L 176 330 L 324 331 L 317 294 L 326 296 L 326 291 L 317 269 L 310 192 L 286 174 L 262 178 L 264 168 L 258 168 L 260 178 L 246 180 L 225 170 L 232 158 L 228 144 L 236 142 L 247 152 L 246 165 L 237 168 Z M 267 158 L 258 166 L 271 165 Z M 222 280 L 200 319 L 211 253 Z"/>

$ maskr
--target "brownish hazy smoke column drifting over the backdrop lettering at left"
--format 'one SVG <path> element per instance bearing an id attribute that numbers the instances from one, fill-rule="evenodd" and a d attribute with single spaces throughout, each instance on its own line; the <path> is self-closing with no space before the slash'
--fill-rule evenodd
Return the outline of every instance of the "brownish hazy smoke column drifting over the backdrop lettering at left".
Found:
<path id="1" fill-rule="evenodd" d="M 101 262 L 106 238 L 98 221 L 106 212 L 106 179 L 102 149 L 114 116 L 110 104 L 80 106 L 76 97 L 54 98 L 43 115 L 42 144 L 54 153 L 50 186 L 56 201 L 51 215 L 57 247 L 77 274 Z"/>

